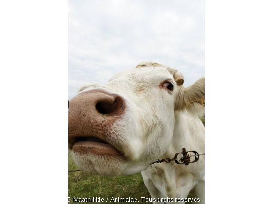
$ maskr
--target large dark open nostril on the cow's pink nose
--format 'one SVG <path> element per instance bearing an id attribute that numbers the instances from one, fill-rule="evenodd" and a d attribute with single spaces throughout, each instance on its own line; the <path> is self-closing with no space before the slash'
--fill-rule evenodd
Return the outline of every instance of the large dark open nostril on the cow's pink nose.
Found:
<path id="1" fill-rule="evenodd" d="M 120 99 L 115 99 L 114 102 L 110 101 L 101 101 L 96 104 L 96 109 L 99 113 L 108 115 L 108 114 L 115 114 L 120 109 L 123 108 L 122 101 Z"/>

